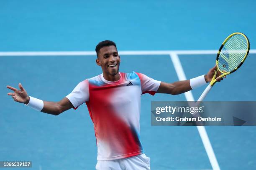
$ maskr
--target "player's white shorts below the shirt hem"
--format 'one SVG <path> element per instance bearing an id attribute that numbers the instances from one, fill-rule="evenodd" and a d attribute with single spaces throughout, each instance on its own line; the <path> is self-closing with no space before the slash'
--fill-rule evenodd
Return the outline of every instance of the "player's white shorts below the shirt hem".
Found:
<path id="1" fill-rule="evenodd" d="M 150 170 L 150 158 L 141 155 L 118 160 L 98 160 L 96 170 Z"/>

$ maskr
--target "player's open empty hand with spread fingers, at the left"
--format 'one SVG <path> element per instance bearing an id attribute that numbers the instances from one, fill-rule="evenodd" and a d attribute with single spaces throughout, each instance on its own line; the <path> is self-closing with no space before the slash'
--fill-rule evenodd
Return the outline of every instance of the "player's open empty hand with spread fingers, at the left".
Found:
<path id="1" fill-rule="evenodd" d="M 14 87 L 11 87 L 9 85 L 6 87 L 10 90 L 13 90 L 13 92 L 8 92 L 7 95 L 11 95 L 15 102 L 28 104 L 29 96 L 28 96 L 26 90 L 22 87 L 22 85 L 20 83 L 19 83 L 20 90 L 14 88 Z"/>

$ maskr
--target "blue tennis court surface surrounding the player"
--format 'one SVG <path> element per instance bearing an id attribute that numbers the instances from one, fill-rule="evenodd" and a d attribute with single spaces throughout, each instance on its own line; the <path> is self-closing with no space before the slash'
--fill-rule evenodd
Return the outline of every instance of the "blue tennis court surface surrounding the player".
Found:
<path id="1" fill-rule="evenodd" d="M 77 83 L 102 73 L 92 51 L 105 39 L 117 44 L 120 72 L 174 82 L 207 73 L 215 64 L 212 51 L 230 33 L 243 32 L 251 54 L 205 100 L 256 100 L 252 0 L 0 3 L 0 161 L 29 160 L 27 169 L 33 170 L 95 169 L 97 147 L 86 105 L 48 115 L 13 102 L 6 85 L 22 83 L 29 95 L 59 101 Z M 151 126 L 152 100 L 197 100 L 204 89 L 142 95 L 141 141 L 152 170 L 256 169 L 254 126 L 205 127 L 210 143 L 195 126 Z"/>

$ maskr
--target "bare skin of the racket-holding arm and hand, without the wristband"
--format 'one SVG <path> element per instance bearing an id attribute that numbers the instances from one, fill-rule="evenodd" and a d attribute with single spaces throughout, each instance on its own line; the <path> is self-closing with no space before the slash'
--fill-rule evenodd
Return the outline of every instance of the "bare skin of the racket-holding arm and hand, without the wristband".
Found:
<path id="1" fill-rule="evenodd" d="M 209 70 L 209 72 L 206 75 L 204 75 L 205 83 L 210 82 L 212 80 L 216 67 L 217 65 L 215 67 L 212 67 Z M 218 77 L 219 75 L 220 75 L 220 72 L 217 73 L 216 77 Z M 217 79 L 218 82 L 220 82 L 220 80 L 223 80 L 223 78 Z M 178 95 L 178 94 L 187 92 L 189 90 L 192 90 L 192 87 L 190 85 L 190 80 L 177 81 L 173 83 L 161 82 L 157 90 L 157 93 L 167 93 L 171 95 Z"/>

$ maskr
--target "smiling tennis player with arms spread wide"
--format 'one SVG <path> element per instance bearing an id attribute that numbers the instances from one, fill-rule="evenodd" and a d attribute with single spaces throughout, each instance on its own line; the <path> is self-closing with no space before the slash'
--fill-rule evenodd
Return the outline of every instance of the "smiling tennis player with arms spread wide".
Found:
<path id="1" fill-rule="evenodd" d="M 52 115 L 77 109 L 85 103 L 97 140 L 96 170 L 150 170 L 150 159 L 144 154 L 140 140 L 141 95 L 187 92 L 212 80 L 215 67 L 206 75 L 166 83 L 138 72 L 119 72 L 120 56 L 113 41 L 102 41 L 95 50 L 96 64 L 102 68 L 102 74 L 79 82 L 61 101 L 48 102 L 28 96 L 21 84 L 20 90 L 7 86 L 13 90 L 8 95 L 16 102 Z"/>

